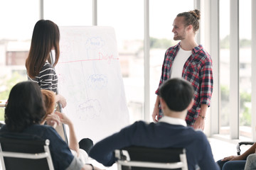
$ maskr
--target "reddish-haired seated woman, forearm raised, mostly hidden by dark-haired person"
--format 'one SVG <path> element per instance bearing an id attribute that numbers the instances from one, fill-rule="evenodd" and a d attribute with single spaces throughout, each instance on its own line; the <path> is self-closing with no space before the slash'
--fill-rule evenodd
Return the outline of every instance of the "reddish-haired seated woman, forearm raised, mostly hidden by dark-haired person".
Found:
<path id="1" fill-rule="evenodd" d="M 75 135 L 74 126 L 71 120 L 63 113 L 60 113 L 58 111 L 54 113 L 55 103 L 58 101 L 58 98 L 57 98 L 58 95 L 55 95 L 53 91 L 48 91 L 43 89 L 41 90 L 41 92 L 43 94 L 43 101 L 46 106 L 46 115 L 44 116 L 41 124 L 43 125 L 45 121 L 48 120 L 48 124 L 52 125 L 53 128 L 55 128 L 56 125 L 59 123 L 58 121 L 58 118 L 59 118 L 61 123 L 68 125 L 69 132 L 70 132 L 69 134 L 70 137 L 68 142 L 69 142 L 69 147 L 72 154 L 78 157 L 82 161 L 82 163 L 84 164 L 88 163 L 89 157 L 87 153 L 88 153 L 88 149 L 90 149 L 93 145 L 92 140 L 88 138 L 82 139 L 80 141 L 80 144 L 84 142 L 85 144 L 87 144 L 87 147 L 80 149 L 81 146 L 79 146 L 78 144 L 78 140 Z M 53 118 L 55 116 L 57 116 L 58 118 Z"/>

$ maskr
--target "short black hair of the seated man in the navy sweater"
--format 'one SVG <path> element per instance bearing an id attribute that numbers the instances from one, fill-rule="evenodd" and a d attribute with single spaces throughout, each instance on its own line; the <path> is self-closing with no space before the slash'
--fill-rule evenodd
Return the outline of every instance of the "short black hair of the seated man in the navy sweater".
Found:
<path id="1" fill-rule="evenodd" d="M 193 94 L 193 86 L 183 79 L 169 79 L 159 88 L 159 96 L 171 111 L 184 111 L 191 103 Z"/>

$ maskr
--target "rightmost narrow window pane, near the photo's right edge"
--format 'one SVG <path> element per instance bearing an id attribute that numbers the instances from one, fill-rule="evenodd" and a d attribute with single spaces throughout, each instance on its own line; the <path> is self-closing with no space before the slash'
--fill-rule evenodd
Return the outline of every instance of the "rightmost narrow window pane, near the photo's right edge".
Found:
<path id="1" fill-rule="evenodd" d="M 242 137 L 252 137 L 251 111 L 251 40 L 252 40 L 252 8 L 251 0 L 239 3 L 239 84 L 240 84 L 240 113 L 239 134 Z"/>

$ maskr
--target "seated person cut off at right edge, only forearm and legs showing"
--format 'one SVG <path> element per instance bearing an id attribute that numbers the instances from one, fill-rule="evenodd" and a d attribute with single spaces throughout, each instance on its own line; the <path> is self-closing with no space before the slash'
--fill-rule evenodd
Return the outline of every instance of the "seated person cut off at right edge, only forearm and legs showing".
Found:
<path id="1" fill-rule="evenodd" d="M 254 154 L 255 153 L 255 149 L 256 149 L 256 143 L 254 143 L 243 154 L 238 155 L 238 156 L 225 157 L 223 159 L 218 160 L 217 163 L 220 166 L 220 169 L 223 169 L 223 170 L 228 170 L 228 169 L 232 169 L 232 170 L 245 169 L 245 163 L 247 162 L 246 159 L 247 159 L 247 157 L 250 154 Z M 252 157 L 250 159 L 252 159 Z M 256 159 L 255 159 L 255 161 L 256 161 Z M 247 166 L 249 166 L 249 163 L 248 163 Z M 255 169 L 256 169 L 256 167 L 255 167 Z"/>

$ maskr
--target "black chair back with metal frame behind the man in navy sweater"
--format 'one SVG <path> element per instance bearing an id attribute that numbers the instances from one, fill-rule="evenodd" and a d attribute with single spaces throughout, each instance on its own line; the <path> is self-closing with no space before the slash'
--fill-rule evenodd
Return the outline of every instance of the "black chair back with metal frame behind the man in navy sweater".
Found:
<path id="1" fill-rule="evenodd" d="M 127 147 L 115 150 L 118 170 L 187 170 L 186 149 Z"/>

